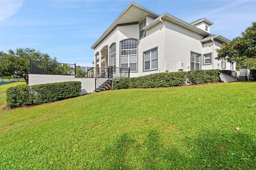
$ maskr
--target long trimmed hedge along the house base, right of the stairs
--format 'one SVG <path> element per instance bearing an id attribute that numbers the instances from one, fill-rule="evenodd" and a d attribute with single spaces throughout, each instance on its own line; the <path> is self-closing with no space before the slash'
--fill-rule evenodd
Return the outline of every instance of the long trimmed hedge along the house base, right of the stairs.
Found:
<path id="1" fill-rule="evenodd" d="M 141 77 L 120 79 L 118 83 L 114 82 L 113 89 L 174 87 L 183 85 L 186 80 L 192 84 L 212 83 L 220 81 L 218 72 L 229 75 L 232 73 L 230 70 L 219 69 L 155 73 Z"/>

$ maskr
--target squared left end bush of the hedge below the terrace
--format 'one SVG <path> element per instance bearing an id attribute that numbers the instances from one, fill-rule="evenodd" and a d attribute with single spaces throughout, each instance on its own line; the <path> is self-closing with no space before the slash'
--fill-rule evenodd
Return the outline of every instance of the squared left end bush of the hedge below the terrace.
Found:
<path id="1" fill-rule="evenodd" d="M 30 87 L 27 84 L 9 87 L 6 90 L 6 102 L 10 108 L 33 105 Z"/>

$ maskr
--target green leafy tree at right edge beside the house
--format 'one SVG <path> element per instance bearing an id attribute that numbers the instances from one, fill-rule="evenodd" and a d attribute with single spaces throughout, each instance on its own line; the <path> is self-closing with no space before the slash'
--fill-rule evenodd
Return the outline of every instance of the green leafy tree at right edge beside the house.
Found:
<path id="1" fill-rule="evenodd" d="M 228 43 L 216 49 L 218 56 L 215 59 L 226 59 L 229 63 L 244 65 L 246 63 L 256 63 L 256 22 L 246 28 L 241 33 L 241 37 L 236 37 Z M 254 65 L 256 67 L 256 65 Z"/>

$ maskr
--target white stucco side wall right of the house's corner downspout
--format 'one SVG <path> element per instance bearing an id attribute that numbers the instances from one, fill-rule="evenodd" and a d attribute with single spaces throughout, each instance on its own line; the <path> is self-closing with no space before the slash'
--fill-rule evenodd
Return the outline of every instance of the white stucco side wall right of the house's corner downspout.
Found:
<path id="1" fill-rule="evenodd" d="M 202 55 L 203 36 L 178 26 L 172 22 L 165 21 L 165 44 L 164 61 L 169 63 L 169 72 L 178 71 L 178 63 L 184 63 L 184 70 L 189 71 L 191 51 Z"/>

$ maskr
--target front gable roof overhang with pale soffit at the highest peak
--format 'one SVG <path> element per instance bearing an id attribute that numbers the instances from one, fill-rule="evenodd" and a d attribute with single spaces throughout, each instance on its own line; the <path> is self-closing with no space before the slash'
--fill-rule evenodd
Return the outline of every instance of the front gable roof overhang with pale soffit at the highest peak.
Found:
<path id="1" fill-rule="evenodd" d="M 117 25 L 139 22 L 146 16 L 157 18 L 159 15 L 131 2 L 126 9 L 118 16 L 111 26 L 100 36 L 100 38 L 92 45 L 95 48 Z"/>

